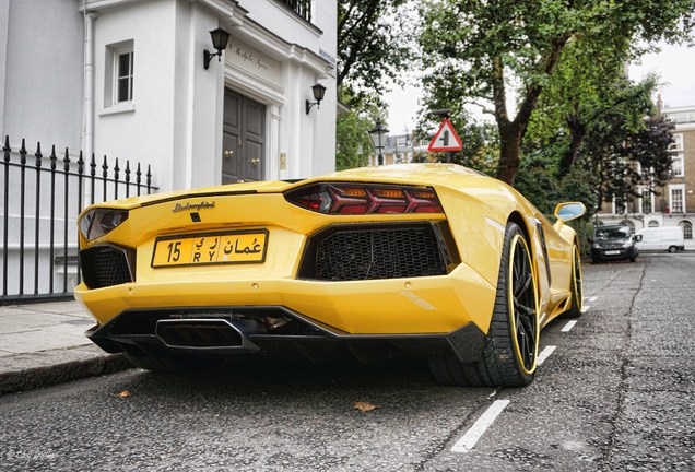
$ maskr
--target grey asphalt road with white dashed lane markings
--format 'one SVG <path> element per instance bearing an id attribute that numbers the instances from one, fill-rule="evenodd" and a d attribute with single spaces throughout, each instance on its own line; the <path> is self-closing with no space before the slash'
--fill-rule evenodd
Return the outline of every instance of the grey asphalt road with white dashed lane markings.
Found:
<path id="1" fill-rule="evenodd" d="M 586 264 L 590 308 L 543 331 L 522 389 L 441 387 L 397 362 L 130 370 L 4 396 L 0 470 L 692 471 L 694 274 L 695 255 Z"/>

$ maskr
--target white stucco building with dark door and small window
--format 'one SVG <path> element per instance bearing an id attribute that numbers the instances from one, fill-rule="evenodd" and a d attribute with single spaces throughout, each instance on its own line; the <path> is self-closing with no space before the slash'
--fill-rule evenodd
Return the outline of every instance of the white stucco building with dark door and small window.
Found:
<path id="1" fill-rule="evenodd" d="M 332 0 L 0 0 L 0 131 L 151 164 L 161 191 L 330 172 L 335 22 Z"/>

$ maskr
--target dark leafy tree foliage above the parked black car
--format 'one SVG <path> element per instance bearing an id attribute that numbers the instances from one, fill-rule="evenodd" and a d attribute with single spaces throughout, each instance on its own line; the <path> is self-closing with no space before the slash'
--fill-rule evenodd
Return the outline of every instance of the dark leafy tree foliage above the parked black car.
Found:
<path id="1" fill-rule="evenodd" d="M 614 197 L 626 202 L 644 189 L 656 192 L 670 178 L 673 138 L 672 125 L 655 118 L 653 78 L 619 78 L 593 91 L 577 84 L 584 94 L 563 101 L 550 86 L 541 101 L 522 146 L 519 190 L 542 206 L 534 182 L 543 182 L 546 200 L 579 200 L 590 213 Z"/>

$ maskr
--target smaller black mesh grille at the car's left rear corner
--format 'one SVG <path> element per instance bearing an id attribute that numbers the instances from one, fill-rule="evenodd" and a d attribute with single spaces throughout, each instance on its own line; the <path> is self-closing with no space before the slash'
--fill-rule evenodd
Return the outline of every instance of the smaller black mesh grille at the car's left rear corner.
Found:
<path id="1" fill-rule="evenodd" d="M 132 282 L 125 249 L 97 246 L 80 251 L 84 283 L 90 288 L 103 288 Z"/>

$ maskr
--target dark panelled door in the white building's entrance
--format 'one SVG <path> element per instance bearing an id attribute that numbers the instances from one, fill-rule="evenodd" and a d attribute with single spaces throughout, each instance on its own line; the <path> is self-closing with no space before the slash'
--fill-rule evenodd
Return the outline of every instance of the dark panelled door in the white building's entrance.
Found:
<path id="1" fill-rule="evenodd" d="M 266 105 L 225 90 L 222 145 L 222 184 L 261 180 Z"/>

